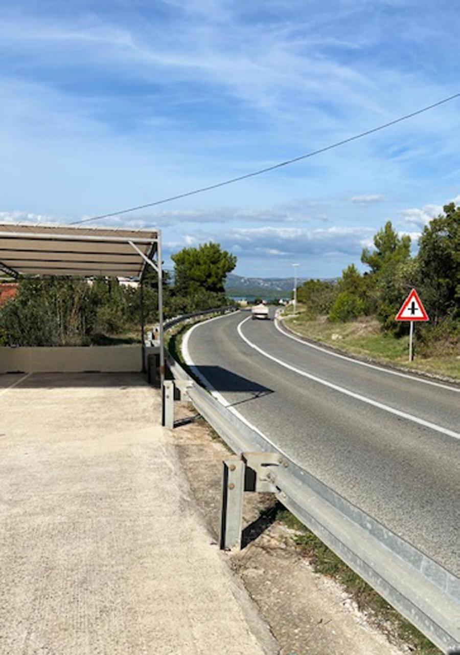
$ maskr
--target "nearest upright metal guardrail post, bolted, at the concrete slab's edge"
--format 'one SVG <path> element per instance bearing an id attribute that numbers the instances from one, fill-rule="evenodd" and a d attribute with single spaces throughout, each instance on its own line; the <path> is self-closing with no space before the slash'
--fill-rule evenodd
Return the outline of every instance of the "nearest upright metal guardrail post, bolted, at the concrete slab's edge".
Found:
<path id="1" fill-rule="evenodd" d="M 243 521 L 243 489 L 245 463 L 238 457 L 223 462 L 221 533 L 222 550 L 241 548 L 241 522 Z"/>

